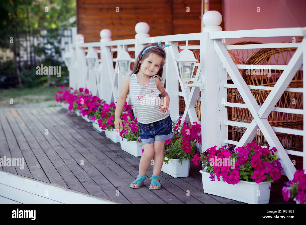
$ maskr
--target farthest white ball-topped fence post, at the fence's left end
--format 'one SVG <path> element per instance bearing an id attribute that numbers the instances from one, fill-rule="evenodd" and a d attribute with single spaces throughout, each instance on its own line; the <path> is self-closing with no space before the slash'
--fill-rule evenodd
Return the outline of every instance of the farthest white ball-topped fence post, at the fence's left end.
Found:
<path id="1" fill-rule="evenodd" d="M 84 36 L 82 34 L 76 35 L 75 51 L 76 51 L 76 79 L 77 79 L 77 88 L 86 88 L 85 77 L 87 76 L 88 69 L 86 65 L 85 52 L 83 47 Z"/>

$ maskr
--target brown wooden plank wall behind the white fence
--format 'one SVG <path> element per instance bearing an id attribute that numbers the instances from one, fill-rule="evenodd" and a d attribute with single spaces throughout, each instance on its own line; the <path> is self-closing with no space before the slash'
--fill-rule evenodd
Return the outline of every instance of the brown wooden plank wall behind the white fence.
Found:
<path id="1" fill-rule="evenodd" d="M 209 9 L 222 13 L 221 2 L 210 0 Z M 110 29 L 113 40 L 135 38 L 138 22 L 149 24 L 151 37 L 197 33 L 200 16 L 201 0 L 77 0 L 77 32 L 85 42 L 99 41 L 102 29 Z"/>

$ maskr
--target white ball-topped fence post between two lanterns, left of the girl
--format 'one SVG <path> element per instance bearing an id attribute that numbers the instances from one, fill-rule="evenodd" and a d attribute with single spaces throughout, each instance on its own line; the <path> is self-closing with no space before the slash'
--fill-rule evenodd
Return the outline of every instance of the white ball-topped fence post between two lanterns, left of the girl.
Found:
<path id="1" fill-rule="evenodd" d="M 113 54 L 110 52 L 110 47 L 104 46 L 104 42 L 111 41 L 110 38 L 112 33 L 109 29 L 103 29 L 100 32 L 100 58 L 101 63 L 99 66 L 100 70 L 100 80 L 98 84 L 99 90 L 99 98 L 105 100 L 107 104 L 110 104 L 114 101 L 112 98 L 112 83 L 110 80 L 110 76 L 114 74 L 114 66 L 113 66 Z"/>

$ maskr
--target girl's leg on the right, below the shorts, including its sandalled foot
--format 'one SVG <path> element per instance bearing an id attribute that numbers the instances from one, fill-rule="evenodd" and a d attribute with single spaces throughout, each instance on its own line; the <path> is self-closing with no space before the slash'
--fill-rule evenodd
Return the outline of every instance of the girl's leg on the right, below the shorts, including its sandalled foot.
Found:
<path id="1" fill-rule="evenodd" d="M 154 164 L 153 176 L 159 176 L 164 163 L 164 144 L 165 141 L 154 141 Z M 159 179 L 156 179 L 159 182 Z M 158 186 L 150 186 L 150 188 L 158 188 Z"/>

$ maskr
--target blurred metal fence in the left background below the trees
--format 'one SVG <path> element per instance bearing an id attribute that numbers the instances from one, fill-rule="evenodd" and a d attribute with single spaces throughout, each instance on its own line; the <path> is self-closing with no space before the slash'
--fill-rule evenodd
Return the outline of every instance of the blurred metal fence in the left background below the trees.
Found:
<path id="1" fill-rule="evenodd" d="M 0 88 L 16 87 L 21 83 L 18 74 L 35 69 L 48 58 L 63 63 L 62 52 L 69 50 L 75 34 L 76 28 L 0 31 L 4 40 L 0 46 Z"/>

